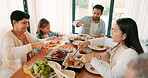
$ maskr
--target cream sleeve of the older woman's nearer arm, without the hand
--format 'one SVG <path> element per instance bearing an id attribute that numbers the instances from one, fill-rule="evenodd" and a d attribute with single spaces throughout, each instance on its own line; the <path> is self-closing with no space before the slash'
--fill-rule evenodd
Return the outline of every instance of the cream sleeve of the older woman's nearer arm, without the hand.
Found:
<path id="1" fill-rule="evenodd" d="M 12 38 L 5 38 L 3 40 L 3 55 L 9 60 L 15 60 L 23 57 L 28 52 L 32 51 L 31 44 L 15 47 Z"/>

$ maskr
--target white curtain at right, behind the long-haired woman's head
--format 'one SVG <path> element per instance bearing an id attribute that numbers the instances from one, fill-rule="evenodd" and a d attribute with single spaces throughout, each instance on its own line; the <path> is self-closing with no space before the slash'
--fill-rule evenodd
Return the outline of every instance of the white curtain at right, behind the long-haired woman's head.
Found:
<path id="1" fill-rule="evenodd" d="M 148 42 L 148 0 L 126 0 L 125 4 L 125 16 L 137 22 L 140 40 Z"/>

